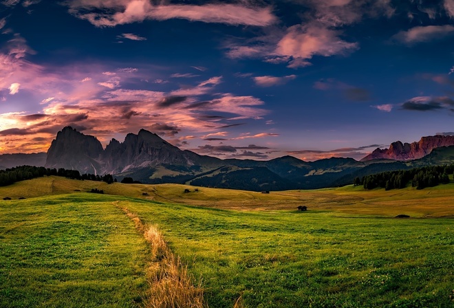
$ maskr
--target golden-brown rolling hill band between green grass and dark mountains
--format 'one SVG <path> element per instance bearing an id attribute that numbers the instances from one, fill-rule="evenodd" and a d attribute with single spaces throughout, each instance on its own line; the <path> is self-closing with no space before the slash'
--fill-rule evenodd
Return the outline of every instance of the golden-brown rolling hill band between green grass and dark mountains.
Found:
<path id="1" fill-rule="evenodd" d="M 272 191 L 264 194 L 181 184 L 107 184 L 102 181 L 80 181 L 51 176 L 0 187 L 0 200 L 3 197 L 17 200 L 21 197 L 30 199 L 46 195 L 85 195 L 85 192 L 94 188 L 103 190 L 105 195 L 229 210 L 295 210 L 298 206 L 307 206 L 310 210 L 382 217 L 395 217 L 402 213 L 411 217 L 454 216 L 454 205 L 451 202 L 454 183 L 424 190 L 412 187 L 388 191 L 365 190 L 362 186 L 345 186 L 318 190 Z"/>

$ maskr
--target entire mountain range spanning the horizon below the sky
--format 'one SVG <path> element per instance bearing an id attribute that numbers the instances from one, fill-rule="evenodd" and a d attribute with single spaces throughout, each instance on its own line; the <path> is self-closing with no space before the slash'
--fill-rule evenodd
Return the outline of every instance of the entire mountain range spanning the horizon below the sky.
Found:
<path id="1" fill-rule="evenodd" d="M 412 144 L 393 142 L 389 148 L 377 149 L 360 162 L 336 157 L 305 162 L 291 156 L 256 161 L 219 159 L 183 151 L 144 129 L 137 135 L 129 133 L 124 142 L 113 139 L 102 148 L 96 137 L 68 126 L 57 133 L 47 154 L 0 155 L 0 166 L 9 168 L 14 162 L 44 165 L 81 173 L 110 173 L 118 179 L 133 177 L 149 184 L 180 183 L 258 191 L 313 189 L 352 184 L 354 177 L 387 170 L 452 163 L 454 146 L 451 145 L 454 136 L 435 135 Z M 409 160 L 411 157 L 419 159 Z"/>

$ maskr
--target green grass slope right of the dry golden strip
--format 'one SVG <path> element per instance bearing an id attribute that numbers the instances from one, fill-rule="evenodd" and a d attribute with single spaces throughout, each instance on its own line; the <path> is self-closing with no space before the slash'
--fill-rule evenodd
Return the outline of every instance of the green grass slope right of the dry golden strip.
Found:
<path id="1" fill-rule="evenodd" d="M 127 206 L 159 223 L 211 307 L 454 305 L 451 219 Z"/>

